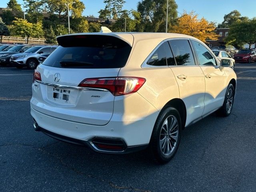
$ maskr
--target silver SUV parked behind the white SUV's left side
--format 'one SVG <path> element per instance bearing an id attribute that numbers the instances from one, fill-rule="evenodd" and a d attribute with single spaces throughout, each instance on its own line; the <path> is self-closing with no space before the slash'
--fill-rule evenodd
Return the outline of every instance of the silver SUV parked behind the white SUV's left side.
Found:
<path id="1" fill-rule="evenodd" d="M 14 54 L 10 58 L 10 64 L 16 68 L 27 67 L 29 69 L 35 69 L 38 66 L 38 58 L 43 53 L 53 52 L 57 46 L 34 46 L 24 53 Z"/>

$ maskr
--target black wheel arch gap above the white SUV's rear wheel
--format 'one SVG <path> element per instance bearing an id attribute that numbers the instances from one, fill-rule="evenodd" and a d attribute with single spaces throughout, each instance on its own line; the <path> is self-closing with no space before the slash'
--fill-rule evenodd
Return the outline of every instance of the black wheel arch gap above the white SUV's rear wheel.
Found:
<path id="1" fill-rule="evenodd" d="M 180 118 L 181 118 L 181 122 L 182 122 L 182 129 L 185 128 L 186 125 L 186 119 L 187 119 L 187 111 L 186 111 L 186 105 L 185 103 L 182 101 L 182 99 L 180 98 L 174 98 L 170 101 L 168 101 L 164 107 L 162 108 L 162 110 L 168 106 L 174 107 L 178 110 L 179 114 L 180 114 Z M 161 111 L 162 111 L 161 110 Z"/>

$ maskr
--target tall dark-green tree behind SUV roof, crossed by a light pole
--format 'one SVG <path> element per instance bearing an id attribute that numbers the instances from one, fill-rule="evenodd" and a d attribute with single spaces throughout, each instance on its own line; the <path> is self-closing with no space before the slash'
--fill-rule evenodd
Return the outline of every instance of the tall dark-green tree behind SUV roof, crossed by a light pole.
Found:
<path id="1" fill-rule="evenodd" d="M 166 0 L 142 0 L 138 2 L 137 10 L 140 12 L 147 32 L 165 32 Z M 168 30 L 176 23 L 178 5 L 175 0 L 169 0 Z"/>

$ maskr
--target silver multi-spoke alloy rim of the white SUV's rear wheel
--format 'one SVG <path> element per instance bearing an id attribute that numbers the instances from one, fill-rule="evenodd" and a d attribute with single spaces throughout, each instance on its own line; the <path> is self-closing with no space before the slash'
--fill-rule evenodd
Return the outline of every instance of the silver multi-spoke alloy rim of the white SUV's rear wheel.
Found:
<path id="1" fill-rule="evenodd" d="M 170 155 L 178 140 L 179 124 L 175 116 L 168 116 L 162 125 L 160 131 L 160 148 L 165 156 Z"/>

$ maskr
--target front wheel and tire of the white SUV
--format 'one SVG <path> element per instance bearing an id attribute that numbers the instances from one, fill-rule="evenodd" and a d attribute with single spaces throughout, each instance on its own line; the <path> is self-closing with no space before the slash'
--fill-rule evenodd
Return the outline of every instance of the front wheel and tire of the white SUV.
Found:
<path id="1" fill-rule="evenodd" d="M 231 96 L 231 92 L 232 92 L 232 96 Z M 234 95 L 235 95 L 234 86 L 232 84 L 229 84 L 228 88 L 226 90 L 224 103 L 223 103 L 222 107 L 217 111 L 217 114 L 219 116 L 227 117 L 231 114 L 233 105 L 234 105 Z M 232 102 L 231 102 L 231 106 L 230 106 L 231 98 L 232 98 Z M 229 102 L 228 102 L 228 99 L 229 99 Z"/>

